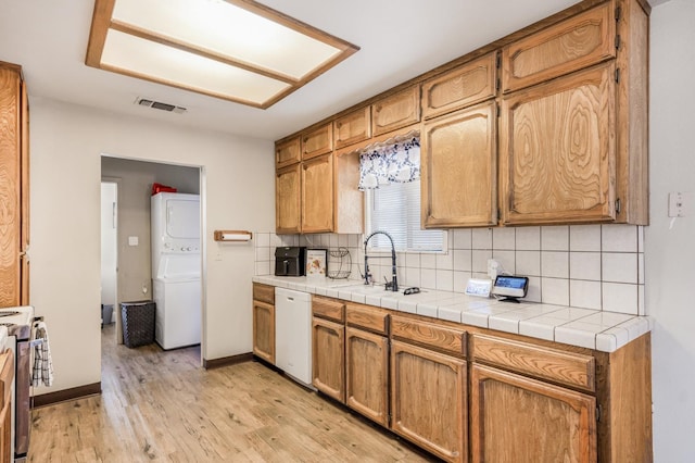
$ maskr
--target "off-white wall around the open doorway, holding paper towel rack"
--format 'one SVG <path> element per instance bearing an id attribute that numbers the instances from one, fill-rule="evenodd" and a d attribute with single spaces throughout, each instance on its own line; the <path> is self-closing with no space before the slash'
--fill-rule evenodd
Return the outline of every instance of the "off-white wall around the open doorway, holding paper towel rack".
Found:
<path id="1" fill-rule="evenodd" d="M 48 99 L 31 99 L 30 105 L 30 298 L 49 325 L 55 367 L 54 386 L 36 393 L 101 379 L 102 153 L 202 166 L 207 262 L 203 356 L 250 352 L 253 245 L 219 246 L 213 232 L 275 227 L 273 142 Z M 222 260 L 213 258 L 218 253 Z"/>

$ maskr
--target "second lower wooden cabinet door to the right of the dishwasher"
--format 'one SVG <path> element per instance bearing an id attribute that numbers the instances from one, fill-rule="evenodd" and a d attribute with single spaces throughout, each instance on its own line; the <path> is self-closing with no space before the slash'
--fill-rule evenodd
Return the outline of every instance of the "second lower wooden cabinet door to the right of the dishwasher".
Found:
<path id="1" fill-rule="evenodd" d="M 389 338 L 345 327 L 346 404 L 389 426 Z"/>

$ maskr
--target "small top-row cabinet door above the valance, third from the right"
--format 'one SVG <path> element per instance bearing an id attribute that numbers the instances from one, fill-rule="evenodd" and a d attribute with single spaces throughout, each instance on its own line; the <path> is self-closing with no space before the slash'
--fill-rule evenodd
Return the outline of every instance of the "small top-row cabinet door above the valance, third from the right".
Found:
<path id="1" fill-rule="evenodd" d="M 375 137 L 419 121 L 419 85 L 386 97 L 371 105 L 371 135 Z"/>

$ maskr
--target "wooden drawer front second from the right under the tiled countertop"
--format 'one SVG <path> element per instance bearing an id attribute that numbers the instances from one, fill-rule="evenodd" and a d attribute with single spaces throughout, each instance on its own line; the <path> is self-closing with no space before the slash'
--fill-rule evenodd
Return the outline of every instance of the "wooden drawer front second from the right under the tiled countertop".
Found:
<path id="1" fill-rule="evenodd" d="M 391 315 L 391 337 L 457 356 L 466 355 L 466 331 L 463 329 Z"/>

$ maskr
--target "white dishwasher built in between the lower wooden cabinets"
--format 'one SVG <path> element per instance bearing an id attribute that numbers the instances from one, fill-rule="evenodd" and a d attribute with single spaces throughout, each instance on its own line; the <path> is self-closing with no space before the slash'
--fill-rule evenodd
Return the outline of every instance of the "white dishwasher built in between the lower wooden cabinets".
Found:
<path id="1" fill-rule="evenodd" d="M 275 288 L 275 365 L 312 387 L 312 295 Z"/>

